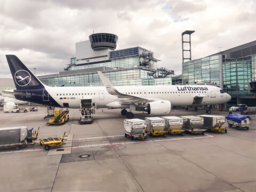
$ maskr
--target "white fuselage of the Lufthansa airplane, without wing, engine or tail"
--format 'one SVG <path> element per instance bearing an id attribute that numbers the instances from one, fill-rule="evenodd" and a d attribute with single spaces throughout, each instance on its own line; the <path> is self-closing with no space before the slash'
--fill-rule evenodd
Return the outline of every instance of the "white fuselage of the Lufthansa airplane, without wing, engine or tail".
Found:
<path id="1" fill-rule="evenodd" d="M 201 88 L 199 88 L 201 87 Z M 203 87 L 203 88 L 202 88 Z M 210 85 L 154 85 L 154 86 L 116 86 L 120 93 L 145 99 L 168 100 L 172 106 L 191 106 L 194 98 L 203 97 L 201 105 L 215 105 L 230 100 L 230 95 L 221 93 L 220 88 Z M 91 98 L 98 108 L 111 107 L 117 97 L 101 87 L 50 87 L 45 89 L 51 97 L 63 107 L 68 103 L 69 108 L 80 108 L 82 98 Z M 47 99 L 47 98 L 45 98 Z M 116 106 L 113 106 L 116 107 Z M 118 107 L 117 107 L 118 108 Z M 120 107 L 121 108 L 121 107 Z"/>

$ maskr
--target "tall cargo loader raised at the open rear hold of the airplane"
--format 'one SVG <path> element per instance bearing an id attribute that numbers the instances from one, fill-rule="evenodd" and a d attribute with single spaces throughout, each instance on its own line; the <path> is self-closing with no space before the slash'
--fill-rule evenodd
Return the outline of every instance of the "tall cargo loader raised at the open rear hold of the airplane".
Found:
<path id="1" fill-rule="evenodd" d="M 91 124 L 93 123 L 93 114 L 96 111 L 96 103 L 92 102 L 92 99 L 81 99 L 81 116 L 78 123 L 80 124 Z"/>

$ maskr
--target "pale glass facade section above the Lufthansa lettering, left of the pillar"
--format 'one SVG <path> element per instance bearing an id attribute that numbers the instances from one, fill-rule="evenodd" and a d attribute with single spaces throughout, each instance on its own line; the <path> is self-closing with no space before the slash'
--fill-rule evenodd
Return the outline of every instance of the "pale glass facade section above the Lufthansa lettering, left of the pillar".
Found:
<path id="1" fill-rule="evenodd" d="M 183 84 L 214 83 L 220 85 L 221 55 L 187 61 L 182 65 Z"/>

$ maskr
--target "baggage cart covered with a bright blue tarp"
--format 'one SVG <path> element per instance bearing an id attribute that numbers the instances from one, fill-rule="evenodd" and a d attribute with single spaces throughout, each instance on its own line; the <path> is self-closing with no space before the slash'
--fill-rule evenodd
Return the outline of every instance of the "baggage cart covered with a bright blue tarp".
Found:
<path id="1" fill-rule="evenodd" d="M 228 127 L 235 126 L 236 129 L 244 128 L 249 130 L 251 126 L 252 118 L 250 116 L 240 115 L 240 114 L 231 114 L 226 116 Z"/>

